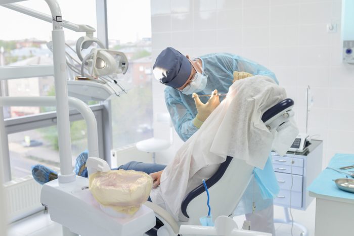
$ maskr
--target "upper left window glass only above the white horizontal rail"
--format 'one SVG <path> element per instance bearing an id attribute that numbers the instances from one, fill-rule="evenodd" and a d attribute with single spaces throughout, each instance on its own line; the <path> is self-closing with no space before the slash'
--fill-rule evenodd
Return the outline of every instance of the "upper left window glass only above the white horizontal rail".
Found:
<path id="1" fill-rule="evenodd" d="M 51 15 L 45 1 L 25 1 L 17 4 Z M 97 27 L 95 0 L 60 1 L 59 5 L 63 20 Z M 82 10 L 80 14 L 77 9 L 84 9 L 84 12 Z M 32 61 L 32 65 L 53 63 L 53 60 L 47 60 L 51 52 L 46 45 L 52 38 L 51 23 L 2 7 L 0 8 L 0 27 L 2 29 L 0 48 L 3 47 L 3 50 L 0 50 L 0 53 L 3 52 L 0 56 L 5 58 L 2 65 L 26 59 Z M 82 33 L 69 29 L 64 29 L 64 31 L 66 42 L 69 44 L 75 43 L 82 36 Z"/>

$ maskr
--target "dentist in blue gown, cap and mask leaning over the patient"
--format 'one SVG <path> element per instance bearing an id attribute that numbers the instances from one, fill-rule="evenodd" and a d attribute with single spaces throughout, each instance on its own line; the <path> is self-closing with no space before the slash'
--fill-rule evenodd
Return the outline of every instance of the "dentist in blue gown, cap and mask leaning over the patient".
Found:
<path id="1" fill-rule="evenodd" d="M 176 132 L 184 141 L 201 127 L 224 99 L 217 93 L 227 93 L 235 80 L 259 74 L 278 83 L 272 71 L 240 56 L 217 53 L 191 59 L 173 48 L 166 48 L 157 56 L 153 74 L 167 85 L 164 89 L 166 106 Z M 209 99 L 197 97 L 210 94 Z M 256 203 L 255 211 L 251 210 L 252 200 Z M 273 199 L 262 199 L 259 188 L 254 190 L 249 184 L 236 213 L 245 214 L 251 221 L 251 230 L 275 235 Z"/>

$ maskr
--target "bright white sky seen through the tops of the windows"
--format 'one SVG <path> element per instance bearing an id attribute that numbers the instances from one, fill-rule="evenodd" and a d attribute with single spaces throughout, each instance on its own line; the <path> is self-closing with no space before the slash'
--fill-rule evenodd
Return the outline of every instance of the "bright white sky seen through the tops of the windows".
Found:
<path id="1" fill-rule="evenodd" d="M 97 29 L 95 0 L 57 0 L 64 20 Z M 44 0 L 18 3 L 50 14 Z M 139 7 L 138 7 L 139 6 Z M 107 0 L 108 38 L 121 42 L 151 37 L 150 0 Z M 52 24 L 0 6 L 0 40 L 37 38 L 51 40 Z M 84 33 L 64 29 L 66 40 L 77 40 Z M 96 35 L 95 35 L 96 36 Z"/>

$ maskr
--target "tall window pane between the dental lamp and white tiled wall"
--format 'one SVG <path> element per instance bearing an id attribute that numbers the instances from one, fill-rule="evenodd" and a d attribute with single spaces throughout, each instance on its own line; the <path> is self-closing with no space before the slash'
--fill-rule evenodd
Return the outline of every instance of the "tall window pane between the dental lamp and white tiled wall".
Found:
<path id="1" fill-rule="evenodd" d="M 118 75 L 128 92 L 111 103 L 113 148 L 118 148 L 153 135 L 152 84 L 144 71 L 152 67 L 150 1 L 108 0 L 107 21 L 109 48 L 129 60 L 127 73 Z"/>

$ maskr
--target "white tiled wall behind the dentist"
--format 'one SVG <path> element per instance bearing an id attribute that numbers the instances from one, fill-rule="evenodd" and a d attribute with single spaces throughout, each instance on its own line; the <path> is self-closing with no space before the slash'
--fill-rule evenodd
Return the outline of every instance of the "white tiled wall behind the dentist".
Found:
<path id="1" fill-rule="evenodd" d="M 267 66 L 295 101 L 301 132 L 309 85 L 308 133 L 324 140 L 324 166 L 336 152 L 354 153 L 354 66 L 341 62 L 340 0 L 151 0 L 151 8 L 154 61 L 172 46 L 192 57 L 229 52 Z M 336 33 L 327 33 L 328 23 Z M 164 86 L 153 87 L 154 112 L 165 111 Z"/>

